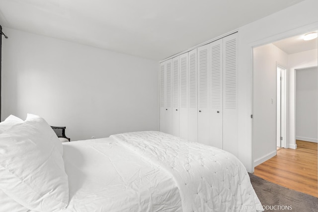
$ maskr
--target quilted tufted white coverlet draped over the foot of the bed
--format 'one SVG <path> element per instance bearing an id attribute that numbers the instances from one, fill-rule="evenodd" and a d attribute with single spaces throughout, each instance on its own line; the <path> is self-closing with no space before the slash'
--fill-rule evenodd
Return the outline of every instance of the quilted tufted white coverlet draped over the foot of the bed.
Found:
<path id="1" fill-rule="evenodd" d="M 183 212 L 262 209 L 246 169 L 229 152 L 160 132 L 125 133 L 110 138 L 173 176 Z"/>

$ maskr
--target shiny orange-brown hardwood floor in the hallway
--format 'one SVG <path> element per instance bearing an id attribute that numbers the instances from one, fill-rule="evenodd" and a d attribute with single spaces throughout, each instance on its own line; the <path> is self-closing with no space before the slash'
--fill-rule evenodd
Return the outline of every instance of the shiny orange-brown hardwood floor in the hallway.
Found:
<path id="1" fill-rule="evenodd" d="M 317 143 L 296 143 L 297 149 L 277 149 L 277 155 L 256 166 L 254 174 L 289 189 L 318 197 Z"/>

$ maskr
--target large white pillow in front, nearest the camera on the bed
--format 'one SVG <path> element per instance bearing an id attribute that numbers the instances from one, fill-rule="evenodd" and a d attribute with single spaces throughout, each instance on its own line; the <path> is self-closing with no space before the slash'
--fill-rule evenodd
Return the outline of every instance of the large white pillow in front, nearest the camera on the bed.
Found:
<path id="1" fill-rule="evenodd" d="M 33 211 L 60 211 L 69 202 L 68 176 L 57 145 L 62 143 L 50 130 L 44 119 L 31 116 L 0 134 L 0 189 Z"/>

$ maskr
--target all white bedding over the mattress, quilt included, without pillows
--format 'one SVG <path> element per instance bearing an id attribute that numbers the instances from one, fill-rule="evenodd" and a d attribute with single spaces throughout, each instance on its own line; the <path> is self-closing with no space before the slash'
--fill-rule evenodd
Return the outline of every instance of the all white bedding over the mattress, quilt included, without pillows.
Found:
<path id="1" fill-rule="evenodd" d="M 63 148 L 70 188 L 63 212 L 261 209 L 243 165 L 215 147 L 136 132 L 66 142 Z"/>

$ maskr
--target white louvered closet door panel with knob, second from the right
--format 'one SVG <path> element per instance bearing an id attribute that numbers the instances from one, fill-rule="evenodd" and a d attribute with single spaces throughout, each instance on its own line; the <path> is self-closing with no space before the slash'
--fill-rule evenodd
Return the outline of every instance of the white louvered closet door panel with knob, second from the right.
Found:
<path id="1" fill-rule="evenodd" d="M 210 72 L 210 145 L 223 148 L 223 41 L 211 43 Z"/>

